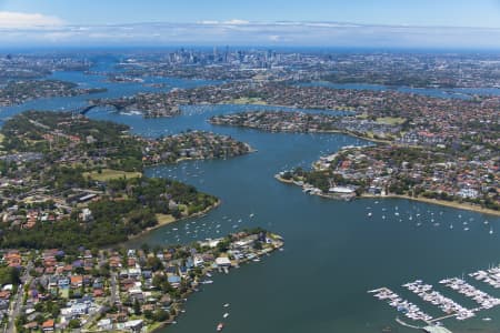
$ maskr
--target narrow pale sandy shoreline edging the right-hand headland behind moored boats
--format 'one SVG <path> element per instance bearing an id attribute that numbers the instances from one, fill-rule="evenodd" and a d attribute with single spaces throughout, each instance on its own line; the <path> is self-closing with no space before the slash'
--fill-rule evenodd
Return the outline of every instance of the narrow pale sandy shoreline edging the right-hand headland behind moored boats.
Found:
<path id="1" fill-rule="evenodd" d="M 293 183 L 292 180 L 284 180 L 279 174 L 274 175 L 274 178 L 279 182 L 297 185 Z M 297 185 L 297 186 L 299 186 L 299 185 Z M 334 199 L 334 198 L 332 198 L 330 195 L 326 195 L 326 194 L 313 194 L 313 195 L 318 195 L 318 196 L 326 198 L 326 199 Z M 421 196 L 413 198 L 413 196 L 409 196 L 409 195 L 399 195 L 399 194 L 388 194 L 388 195 L 382 196 L 382 195 L 362 194 L 361 196 L 357 196 L 356 199 L 407 199 L 407 200 L 413 200 L 413 201 L 431 203 L 431 204 L 437 204 L 437 205 L 442 205 L 442 206 L 449 206 L 449 208 L 454 208 L 454 209 L 460 209 L 460 210 L 473 211 L 473 212 L 482 213 L 482 214 L 500 216 L 500 211 L 486 209 L 486 208 L 482 208 L 479 205 L 473 205 L 473 204 L 466 203 L 466 202 L 460 203 L 457 201 L 444 201 L 444 200 L 437 200 L 437 199 L 429 199 L 429 198 L 421 198 Z"/>

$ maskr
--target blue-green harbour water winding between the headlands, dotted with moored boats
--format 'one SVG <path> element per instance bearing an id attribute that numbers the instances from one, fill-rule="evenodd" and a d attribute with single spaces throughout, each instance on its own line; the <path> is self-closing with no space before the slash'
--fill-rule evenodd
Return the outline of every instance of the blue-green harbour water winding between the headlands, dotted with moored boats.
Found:
<path id="1" fill-rule="evenodd" d="M 58 73 L 57 78 L 102 87 L 99 77 Z M 206 84 L 202 81 L 167 79 L 172 87 Z M 143 91 L 138 83 L 106 83 L 99 97 Z M 166 88 L 169 89 L 169 88 Z M 26 109 L 60 110 L 84 104 L 88 97 L 31 101 L 0 110 L 6 119 Z M 444 295 L 468 305 L 468 300 L 442 289 L 438 281 L 461 276 L 500 262 L 500 219 L 474 212 L 407 200 L 331 201 L 311 196 L 300 188 L 279 183 L 273 175 L 293 167 L 308 168 L 320 155 L 343 145 L 369 144 L 342 134 L 266 133 L 248 129 L 213 127 L 210 115 L 257 107 L 186 107 L 172 119 L 142 119 L 94 109 L 92 119 L 123 122 L 136 134 L 159 137 L 188 129 L 210 130 L 250 143 L 258 151 L 234 159 L 192 161 L 147 171 L 151 176 L 171 176 L 196 185 L 222 200 L 199 219 L 158 229 L 134 240 L 169 244 L 216 238 L 248 226 L 263 226 L 283 235 L 284 251 L 252 262 L 231 274 L 213 276 L 186 304 L 178 323 L 162 332 L 210 332 L 222 321 L 224 332 L 411 332 L 396 323 L 397 312 L 367 294 L 387 286 L 439 316 L 439 310 L 419 301 L 401 284 L 422 279 Z M 371 212 L 371 216 L 369 216 Z M 488 224 L 484 223 L 488 221 Z M 467 224 L 464 224 L 464 222 Z M 453 225 L 453 229 L 450 228 Z M 467 231 L 464 229 L 468 229 Z M 491 234 L 489 231 L 493 230 Z M 468 281 L 493 296 L 500 291 Z M 224 303 L 230 303 L 228 309 Z M 496 332 L 500 311 L 483 313 L 466 322 L 444 321 L 453 332 Z"/>

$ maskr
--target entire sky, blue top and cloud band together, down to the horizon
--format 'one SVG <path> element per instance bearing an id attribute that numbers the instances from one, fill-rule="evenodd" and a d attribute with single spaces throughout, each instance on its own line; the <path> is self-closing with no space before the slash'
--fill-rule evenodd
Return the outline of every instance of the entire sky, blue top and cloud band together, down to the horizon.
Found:
<path id="1" fill-rule="evenodd" d="M 0 0 L 7 47 L 242 41 L 500 49 L 500 0 Z"/>

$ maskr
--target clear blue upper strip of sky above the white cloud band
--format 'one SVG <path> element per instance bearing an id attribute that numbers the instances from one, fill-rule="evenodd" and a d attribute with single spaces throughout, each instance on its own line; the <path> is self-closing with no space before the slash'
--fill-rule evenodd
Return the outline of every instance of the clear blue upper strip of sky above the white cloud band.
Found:
<path id="1" fill-rule="evenodd" d="M 238 19 L 500 28 L 499 0 L 0 0 L 0 10 L 69 24 Z"/>

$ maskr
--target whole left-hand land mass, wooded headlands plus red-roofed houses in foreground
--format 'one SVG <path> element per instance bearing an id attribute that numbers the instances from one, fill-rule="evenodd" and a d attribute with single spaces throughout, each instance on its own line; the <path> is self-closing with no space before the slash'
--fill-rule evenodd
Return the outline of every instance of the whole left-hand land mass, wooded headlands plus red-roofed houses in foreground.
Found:
<path id="1" fill-rule="evenodd" d="M 128 131 L 42 111 L 2 127 L 0 306 L 12 310 L 0 316 L 9 330 L 152 332 L 174 322 L 187 296 L 213 282 L 211 272 L 283 245 L 259 228 L 186 245 L 120 245 L 219 204 L 191 185 L 144 176 L 146 167 L 251 151 L 209 132 L 144 139 Z"/>

